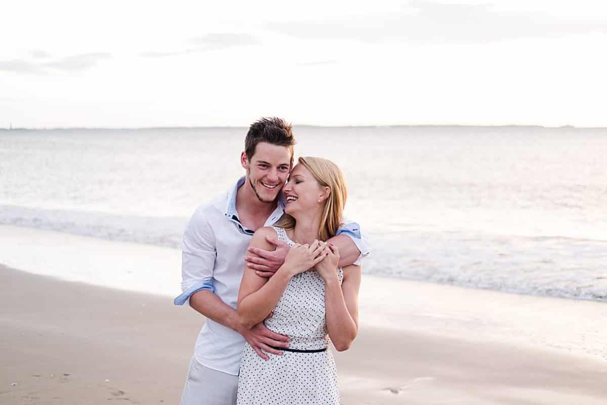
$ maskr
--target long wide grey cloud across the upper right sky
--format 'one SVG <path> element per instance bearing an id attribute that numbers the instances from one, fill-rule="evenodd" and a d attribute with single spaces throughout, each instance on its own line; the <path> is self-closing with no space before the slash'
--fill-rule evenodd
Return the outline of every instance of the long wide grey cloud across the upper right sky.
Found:
<path id="1" fill-rule="evenodd" d="M 445 44 L 606 33 L 607 22 L 560 21 L 541 13 L 501 12 L 484 4 L 412 1 L 409 7 L 392 15 L 327 22 L 273 22 L 268 29 L 304 39 Z"/>

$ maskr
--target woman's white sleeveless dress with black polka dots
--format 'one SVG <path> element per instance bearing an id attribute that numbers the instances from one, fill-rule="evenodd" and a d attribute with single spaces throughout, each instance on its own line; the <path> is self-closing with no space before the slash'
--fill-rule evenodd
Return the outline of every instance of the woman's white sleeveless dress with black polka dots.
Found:
<path id="1" fill-rule="evenodd" d="M 294 242 L 283 228 L 274 227 L 278 238 Z M 339 282 L 343 281 L 339 268 Z M 328 345 L 325 322 L 325 282 L 315 270 L 293 276 L 265 321 L 273 332 L 291 338 L 290 349 L 313 350 Z M 267 353 L 263 360 L 245 343 L 238 383 L 238 405 L 339 404 L 337 369 L 331 349 L 318 353 L 283 351 Z"/>

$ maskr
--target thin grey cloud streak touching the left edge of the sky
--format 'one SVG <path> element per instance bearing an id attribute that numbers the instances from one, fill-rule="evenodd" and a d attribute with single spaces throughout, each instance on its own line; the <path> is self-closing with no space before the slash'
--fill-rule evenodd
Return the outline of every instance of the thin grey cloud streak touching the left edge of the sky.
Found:
<path id="1" fill-rule="evenodd" d="M 47 54 L 45 53 L 45 55 Z M 95 66 L 98 61 L 110 58 L 111 56 L 110 53 L 84 53 L 83 55 L 67 56 L 50 62 L 46 61 L 47 56 L 43 57 L 45 61 L 39 61 L 42 56 L 34 56 L 38 60 L 16 59 L 0 61 L 0 71 L 33 74 L 45 74 L 53 71 L 81 72 Z"/>

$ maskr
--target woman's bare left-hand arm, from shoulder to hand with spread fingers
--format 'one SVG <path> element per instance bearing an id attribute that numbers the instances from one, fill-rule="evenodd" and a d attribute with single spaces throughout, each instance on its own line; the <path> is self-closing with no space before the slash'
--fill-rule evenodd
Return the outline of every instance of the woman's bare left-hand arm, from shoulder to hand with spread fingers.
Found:
<path id="1" fill-rule="evenodd" d="M 257 230 L 251 240 L 251 246 L 269 250 L 272 245 L 265 237 L 270 233 L 271 236 L 276 236 L 273 228 Z M 316 241 L 310 246 L 296 245 L 291 248 L 285 257 L 285 263 L 270 279 L 258 276 L 255 270 L 246 266 L 240 282 L 236 309 L 240 323 L 251 328 L 263 321 L 276 307 L 291 277 L 314 267 L 324 257 L 325 254 Z"/>

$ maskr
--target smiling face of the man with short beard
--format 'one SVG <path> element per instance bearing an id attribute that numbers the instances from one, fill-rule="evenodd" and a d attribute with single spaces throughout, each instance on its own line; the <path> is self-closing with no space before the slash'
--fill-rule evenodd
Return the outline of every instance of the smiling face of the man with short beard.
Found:
<path id="1" fill-rule="evenodd" d="M 288 146 L 260 142 L 251 160 L 248 160 L 244 152 L 240 160 L 257 198 L 266 203 L 276 200 L 291 170 L 291 151 Z"/>

